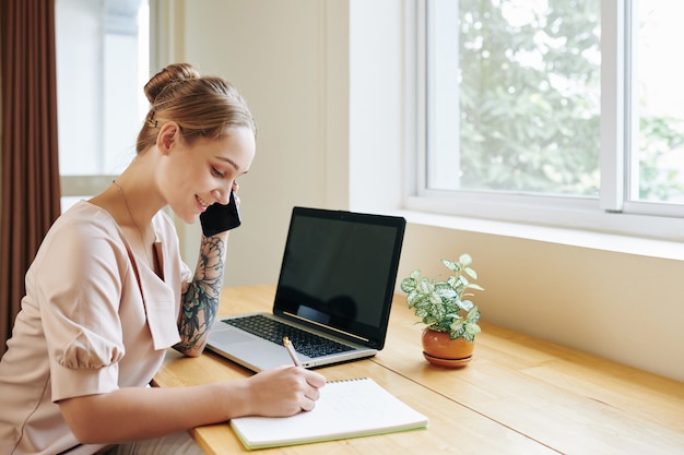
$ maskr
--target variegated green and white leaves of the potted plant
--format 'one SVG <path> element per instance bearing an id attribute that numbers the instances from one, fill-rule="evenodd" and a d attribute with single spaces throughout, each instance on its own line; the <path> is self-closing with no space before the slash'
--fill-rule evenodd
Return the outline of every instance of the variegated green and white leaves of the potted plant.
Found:
<path id="1" fill-rule="evenodd" d="M 401 290 L 408 295 L 409 308 L 429 328 L 447 332 L 451 339 L 465 338 L 473 342 L 481 332 L 477 325 L 480 310 L 468 299 L 472 296 L 469 290 L 484 289 L 468 279 L 477 279 L 476 272 L 470 267 L 472 258 L 462 254 L 458 262 L 443 259 L 441 263 L 451 272 L 447 279 L 429 279 L 415 270 L 402 279 Z"/>

